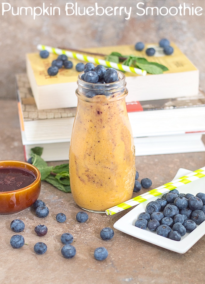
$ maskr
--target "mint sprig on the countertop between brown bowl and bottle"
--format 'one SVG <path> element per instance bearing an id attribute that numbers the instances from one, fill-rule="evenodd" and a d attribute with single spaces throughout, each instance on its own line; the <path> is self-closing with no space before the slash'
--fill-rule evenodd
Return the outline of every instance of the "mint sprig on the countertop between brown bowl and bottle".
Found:
<path id="1" fill-rule="evenodd" d="M 33 166 L 39 169 L 41 180 L 44 180 L 52 186 L 63 192 L 71 192 L 69 164 L 61 164 L 59 166 L 48 166 L 41 158 L 43 153 L 42 147 L 34 147 L 31 149 L 31 161 Z"/>

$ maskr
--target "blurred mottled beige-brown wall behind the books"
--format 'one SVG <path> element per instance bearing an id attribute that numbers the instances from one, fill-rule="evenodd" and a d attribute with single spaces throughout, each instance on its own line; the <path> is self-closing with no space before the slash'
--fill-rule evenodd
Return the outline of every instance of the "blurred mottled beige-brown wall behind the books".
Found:
<path id="1" fill-rule="evenodd" d="M 2 15 L 2 3 L 13 7 L 59 7 L 61 15 L 12 15 L 11 10 Z M 83 7 L 95 3 L 104 8 L 111 6 L 132 7 L 130 19 L 122 15 L 112 16 L 66 16 L 66 3 L 77 3 L 82 12 Z M 203 8 L 201 16 L 188 15 L 143 15 L 138 16 L 137 3 L 140 7 L 162 7 L 168 9 L 185 3 L 189 7 Z M 52 4 L 52 5 L 51 5 Z M 193 5 L 192 5 L 193 4 Z M 9 5 L 5 5 L 8 8 Z M 49 8 L 50 9 L 50 8 Z M 37 10 L 36 10 L 37 11 Z M 164 10 L 163 10 L 164 11 Z M 29 12 L 29 11 L 28 11 Z M 142 10 L 138 10 L 139 13 Z M 174 10 L 172 10 L 172 13 Z M 0 3 L 0 98 L 15 99 L 15 74 L 24 73 L 25 53 L 36 52 L 36 45 L 47 44 L 54 47 L 83 49 L 95 46 L 118 44 L 135 44 L 137 41 L 158 42 L 167 37 L 174 41 L 200 70 L 200 86 L 205 90 L 205 2 L 204 1 L 1 1 Z"/>

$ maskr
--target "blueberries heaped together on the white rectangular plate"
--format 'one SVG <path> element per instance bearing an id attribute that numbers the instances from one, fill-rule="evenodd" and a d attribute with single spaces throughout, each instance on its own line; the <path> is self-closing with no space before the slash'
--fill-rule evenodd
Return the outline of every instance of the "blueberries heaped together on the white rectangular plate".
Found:
<path id="1" fill-rule="evenodd" d="M 146 212 L 139 214 L 135 226 L 147 228 L 163 237 L 180 241 L 186 233 L 192 232 L 205 221 L 205 193 L 179 193 L 177 189 L 151 201 Z"/>

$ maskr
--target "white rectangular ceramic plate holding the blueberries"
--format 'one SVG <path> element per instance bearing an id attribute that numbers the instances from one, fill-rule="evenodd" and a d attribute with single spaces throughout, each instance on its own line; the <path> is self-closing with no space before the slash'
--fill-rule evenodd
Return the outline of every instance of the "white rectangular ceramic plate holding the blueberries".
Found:
<path id="1" fill-rule="evenodd" d="M 174 179 L 177 179 L 180 176 L 186 175 L 190 172 L 191 171 L 187 169 L 181 168 L 178 170 Z M 193 195 L 196 195 L 198 192 L 205 193 L 205 177 L 185 184 L 184 186 L 180 186 L 178 190 L 180 193 L 192 193 Z M 181 237 L 180 241 L 171 240 L 166 237 L 157 235 L 156 232 L 151 232 L 148 229 L 143 230 L 134 226 L 134 223 L 137 220 L 139 214 L 141 212 L 145 212 L 147 203 L 160 197 L 161 195 L 153 197 L 152 199 L 137 205 L 122 218 L 116 221 L 113 226 L 119 231 L 122 231 L 138 239 L 145 240 L 151 244 L 155 244 L 159 247 L 163 247 L 177 253 L 185 253 L 205 234 L 205 221 L 200 225 L 197 225 L 197 228 L 194 229 L 194 231 L 192 231 L 191 233 L 186 233 L 183 237 Z"/>

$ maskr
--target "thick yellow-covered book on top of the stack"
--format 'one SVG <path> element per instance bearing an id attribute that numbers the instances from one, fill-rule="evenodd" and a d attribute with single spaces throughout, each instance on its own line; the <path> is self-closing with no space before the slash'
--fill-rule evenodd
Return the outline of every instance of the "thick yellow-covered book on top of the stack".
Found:
<path id="1" fill-rule="evenodd" d="M 175 44 L 172 55 L 165 55 L 158 44 L 147 44 L 143 51 L 134 49 L 134 45 L 121 45 L 110 47 L 95 47 L 84 49 L 93 53 L 109 55 L 119 52 L 124 56 L 134 55 L 146 58 L 150 62 L 165 65 L 169 70 L 163 74 L 147 74 L 140 76 L 125 72 L 128 88 L 126 102 L 146 101 L 181 96 L 197 95 L 199 91 L 199 70 L 188 60 Z M 156 49 L 155 56 L 147 56 L 148 47 Z M 102 56 L 95 56 L 103 58 Z M 49 76 L 47 69 L 57 55 L 50 54 L 42 59 L 39 53 L 26 54 L 27 76 L 38 109 L 69 108 L 77 106 L 75 90 L 79 72 L 75 66 L 79 60 L 69 59 L 73 62 L 72 69 L 59 69 L 56 76 Z M 84 62 L 86 63 L 86 62 Z"/>

